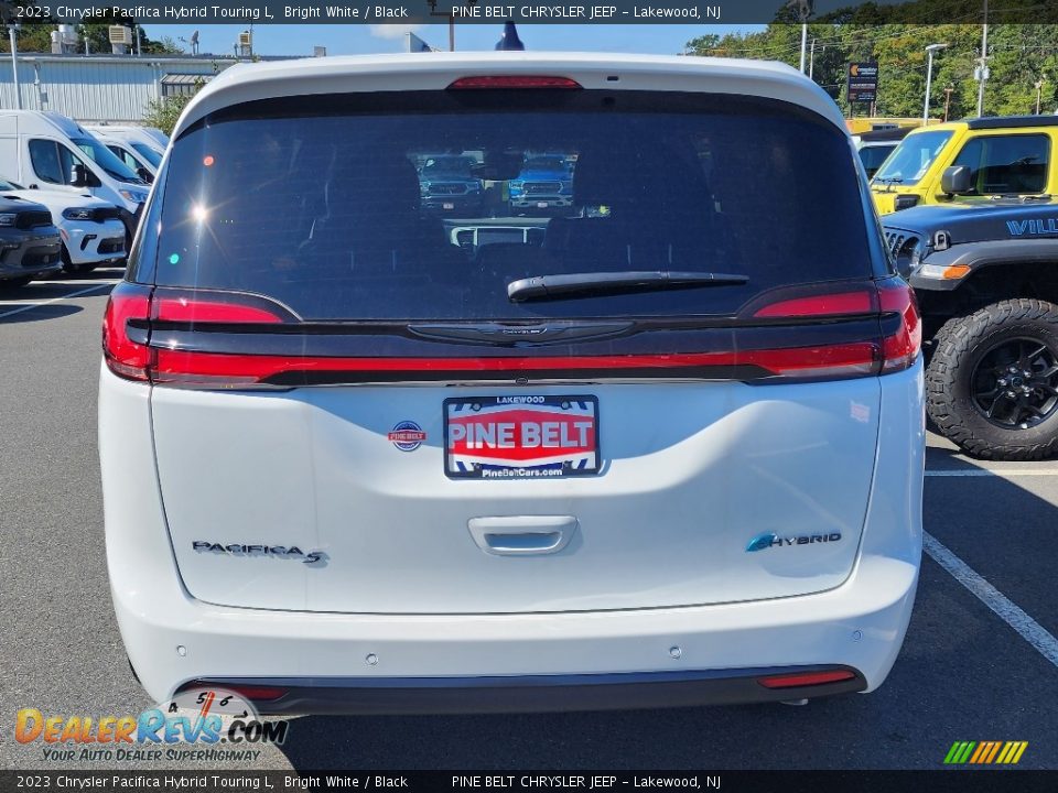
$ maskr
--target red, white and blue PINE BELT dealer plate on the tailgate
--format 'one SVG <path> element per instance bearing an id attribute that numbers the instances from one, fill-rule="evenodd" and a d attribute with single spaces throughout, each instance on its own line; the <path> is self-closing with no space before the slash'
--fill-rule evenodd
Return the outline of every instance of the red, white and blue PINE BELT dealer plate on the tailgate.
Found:
<path id="1" fill-rule="evenodd" d="M 444 472 L 453 479 L 592 476 L 600 466 L 594 397 L 444 401 Z"/>

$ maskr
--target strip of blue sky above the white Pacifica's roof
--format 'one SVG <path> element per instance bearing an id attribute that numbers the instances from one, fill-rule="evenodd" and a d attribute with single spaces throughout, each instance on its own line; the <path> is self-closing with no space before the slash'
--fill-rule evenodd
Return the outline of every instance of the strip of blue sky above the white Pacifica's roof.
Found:
<path id="1" fill-rule="evenodd" d="M 763 28 L 763 25 L 760 26 Z M 233 54 L 245 24 L 143 25 L 151 39 L 169 36 L 191 52 L 190 40 L 198 31 L 198 52 Z M 705 33 L 724 35 L 732 31 L 756 30 L 754 25 L 708 24 L 523 24 L 518 34 L 528 50 L 594 51 L 674 55 L 687 42 Z M 253 51 L 259 55 L 312 55 L 325 46 L 327 55 L 357 55 L 403 52 L 409 30 L 439 50 L 449 48 L 449 28 L 440 25 L 367 24 L 267 24 L 253 28 Z M 456 25 L 456 50 L 492 50 L 503 32 L 500 24 Z"/>

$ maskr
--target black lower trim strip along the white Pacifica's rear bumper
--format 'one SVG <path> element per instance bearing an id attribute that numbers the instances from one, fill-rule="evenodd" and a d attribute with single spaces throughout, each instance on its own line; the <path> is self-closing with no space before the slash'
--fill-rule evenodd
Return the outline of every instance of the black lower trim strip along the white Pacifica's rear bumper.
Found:
<path id="1" fill-rule="evenodd" d="M 228 678 L 195 681 L 188 687 L 235 688 L 245 693 L 260 714 L 559 713 L 781 702 L 866 688 L 866 680 L 856 670 L 839 669 L 850 677 L 785 688 L 768 688 L 759 680 L 835 670 L 798 666 L 521 677 Z M 245 688 L 248 685 L 279 687 L 285 694 L 255 699 Z"/>

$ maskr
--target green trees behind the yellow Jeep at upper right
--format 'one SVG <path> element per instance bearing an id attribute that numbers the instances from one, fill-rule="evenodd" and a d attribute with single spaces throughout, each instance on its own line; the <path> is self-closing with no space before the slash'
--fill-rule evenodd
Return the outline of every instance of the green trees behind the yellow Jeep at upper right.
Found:
<path id="1" fill-rule="evenodd" d="M 922 25 L 890 22 L 914 19 L 916 3 L 899 7 L 865 4 L 854 12 L 834 12 L 809 25 L 808 40 L 816 42 L 812 78 L 838 101 L 845 115 L 865 116 L 857 105 L 850 112 L 845 100 L 845 69 L 851 61 L 878 62 L 877 116 L 921 116 L 926 94 L 926 46 L 948 44 L 933 58 L 930 115 L 940 118 L 944 89 L 951 89 L 950 118 L 976 113 L 978 82 L 974 67 L 981 53 L 980 3 L 940 0 L 951 4 L 953 24 Z M 975 12 L 968 10 L 976 6 Z M 1055 3 L 1058 8 L 1058 3 Z M 896 12 L 900 11 L 899 14 Z M 975 17 L 974 17 L 975 13 Z M 965 20 L 965 21 L 963 21 Z M 773 23 L 757 33 L 709 35 L 688 43 L 695 55 L 749 57 L 800 63 L 801 26 Z M 1036 84 L 1040 109 L 1058 109 L 1058 24 L 991 24 L 989 28 L 990 79 L 985 86 L 984 115 L 1029 113 L 1036 109 Z"/>

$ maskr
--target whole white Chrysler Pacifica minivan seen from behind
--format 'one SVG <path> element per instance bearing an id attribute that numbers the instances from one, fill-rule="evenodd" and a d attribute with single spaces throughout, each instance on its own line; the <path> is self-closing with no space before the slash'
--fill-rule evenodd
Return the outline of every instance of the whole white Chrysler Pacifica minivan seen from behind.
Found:
<path id="1" fill-rule="evenodd" d="M 572 165 L 548 217 L 415 165 Z M 798 699 L 885 680 L 920 329 L 841 113 L 779 65 L 237 66 L 104 325 L 107 554 L 163 698 L 263 711 Z"/>

